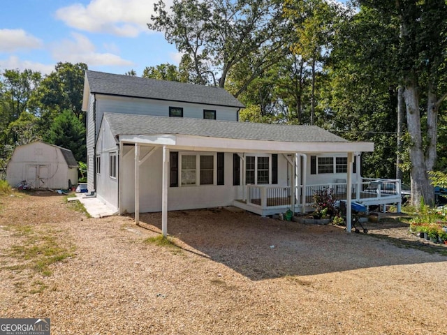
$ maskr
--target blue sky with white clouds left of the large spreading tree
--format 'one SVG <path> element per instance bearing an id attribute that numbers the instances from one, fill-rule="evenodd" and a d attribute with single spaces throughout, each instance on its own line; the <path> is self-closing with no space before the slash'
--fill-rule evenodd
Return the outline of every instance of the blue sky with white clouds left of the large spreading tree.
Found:
<path id="1" fill-rule="evenodd" d="M 0 10 L 0 72 L 43 74 L 57 62 L 142 75 L 146 66 L 179 64 L 181 55 L 147 23 L 156 0 L 8 0 Z M 169 8 L 171 1 L 164 1 Z"/>

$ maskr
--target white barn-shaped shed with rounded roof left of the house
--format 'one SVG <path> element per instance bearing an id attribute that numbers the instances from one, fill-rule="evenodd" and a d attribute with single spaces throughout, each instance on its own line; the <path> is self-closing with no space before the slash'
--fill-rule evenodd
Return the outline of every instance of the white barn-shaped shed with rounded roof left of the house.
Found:
<path id="1" fill-rule="evenodd" d="M 71 150 L 34 142 L 15 148 L 6 177 L 12 187 L 66 189 L 78 184 L 78 163 Z"/>

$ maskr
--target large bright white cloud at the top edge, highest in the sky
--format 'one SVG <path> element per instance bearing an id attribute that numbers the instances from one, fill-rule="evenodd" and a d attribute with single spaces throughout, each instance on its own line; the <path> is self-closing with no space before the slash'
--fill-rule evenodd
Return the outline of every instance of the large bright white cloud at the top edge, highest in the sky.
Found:
<path id="1" fill-rule="evenodd" d="M 136 37 L 149 32 L 147 23 L 154 14 L 156 0 L 91 0 L 85 6 L 75 3 L 59 8 L 57 19 L 75 29 Z M 171 1 L 166 1 L 169 8 Z"/>

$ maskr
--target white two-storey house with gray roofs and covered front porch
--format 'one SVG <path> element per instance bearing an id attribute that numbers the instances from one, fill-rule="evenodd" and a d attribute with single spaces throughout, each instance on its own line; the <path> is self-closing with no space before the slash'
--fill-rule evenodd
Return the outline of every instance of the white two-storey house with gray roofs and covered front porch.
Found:
<path id="1" fill-rule="evenodd" d="M 400 202 L 360 176 L 372 142 L 349 142 L 317 126 L 238 122 L 227 91 L 87 71 L 88 187 L 119 214 L 234 205 L 260 215 L 306 211 L 312 194 Z M 346 192 L 351 190 L 351 192 Z M 347 215 L 351 217 L 351 207 Z M 350 222 L 350 220 L 349 220 Z"/>

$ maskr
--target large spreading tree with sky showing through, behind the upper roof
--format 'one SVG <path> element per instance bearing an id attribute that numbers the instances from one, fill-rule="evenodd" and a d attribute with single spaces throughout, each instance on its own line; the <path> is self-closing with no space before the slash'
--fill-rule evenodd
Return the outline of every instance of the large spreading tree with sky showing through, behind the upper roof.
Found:
<path id="1" fill-rule="evenodd" d="M 284 49 L 279 9 L 279 3 L 265 0 L 174 0 L 168 12 L 160 0 L 147 26 L 163 31 L 169 43 L 189 56 L 198 84 L 225 87 L 235 65 L 251 58 L 254 71 L 235 91 L 237 97 Z"/>

